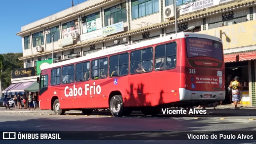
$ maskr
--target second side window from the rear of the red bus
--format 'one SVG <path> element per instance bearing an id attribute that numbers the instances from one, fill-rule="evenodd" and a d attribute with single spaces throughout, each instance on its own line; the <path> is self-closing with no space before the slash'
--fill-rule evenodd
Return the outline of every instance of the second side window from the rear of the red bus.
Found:
<path id="1" fill-rule="evenodd" d="M 153 64 L 153 48 L 131 52 L 130 73 L 151 72 Z"/>

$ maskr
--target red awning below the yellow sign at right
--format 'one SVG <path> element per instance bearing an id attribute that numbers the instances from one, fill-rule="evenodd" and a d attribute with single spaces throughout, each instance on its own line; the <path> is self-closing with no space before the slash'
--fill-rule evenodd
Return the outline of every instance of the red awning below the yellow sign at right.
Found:
<path id="1" fill-rule="evenodd" d="M 254 60 L 256 59 L 256 52 L 243 52 L 224 55 L 225 62 L 236 62 L 236 58 L 238 59 L 238 61 Z"/>

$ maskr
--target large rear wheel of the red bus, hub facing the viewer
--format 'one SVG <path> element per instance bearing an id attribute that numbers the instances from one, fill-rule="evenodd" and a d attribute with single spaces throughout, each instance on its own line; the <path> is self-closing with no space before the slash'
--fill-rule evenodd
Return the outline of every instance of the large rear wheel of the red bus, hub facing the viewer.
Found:
<path id="1" fill-rule="evenodd" d="M 113 116 L 123 116 L 125 111 L 122 96 L 113 96 L 110 100 L 109 108 Z"/>

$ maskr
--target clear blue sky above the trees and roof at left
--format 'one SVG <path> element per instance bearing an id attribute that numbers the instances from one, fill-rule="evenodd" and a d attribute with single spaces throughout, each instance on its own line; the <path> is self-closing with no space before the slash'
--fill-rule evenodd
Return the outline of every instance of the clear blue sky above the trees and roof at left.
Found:
<path id="1" fill-rule="evenodd" d="M 77 5 L 86 0 L 73 0 Z M 72 7 L 72 0 L 1 0 L 0 54 L 22 52 L 21 27 Z"/>

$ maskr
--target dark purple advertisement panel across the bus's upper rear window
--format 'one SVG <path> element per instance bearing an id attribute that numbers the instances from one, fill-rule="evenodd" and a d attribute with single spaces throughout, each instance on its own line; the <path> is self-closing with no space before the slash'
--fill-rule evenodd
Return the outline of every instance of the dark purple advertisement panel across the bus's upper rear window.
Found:
<path id="1" fill-rule="evenodd" d="M 215 40 L 205 38 L 186 38 L 186 48 L 188 58 L 196 56 L 206 56 L 223 60 L 222 44 Z"/>

